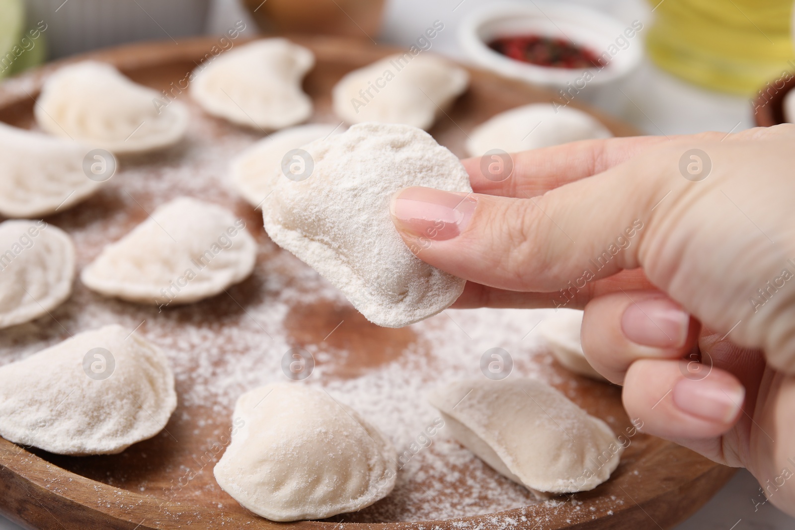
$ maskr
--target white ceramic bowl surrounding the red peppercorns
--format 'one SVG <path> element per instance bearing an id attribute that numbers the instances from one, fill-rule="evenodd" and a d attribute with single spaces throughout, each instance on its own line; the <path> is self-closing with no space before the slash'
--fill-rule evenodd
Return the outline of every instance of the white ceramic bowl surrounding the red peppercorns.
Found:
<path id="1" fill-rule="evenodd" d="M 586 71 L 592 74 L 587 83 L 594 85 L 609 83 L 631 72 L 643 56 L 642 38 L 637 33 L 631 26 L 588 7 L 536 0 L 530 4 L 493 4 L 473 11 L 460 25 L 459 39 L 464 52 L 483 68 L 529 83 L 566 87 L 568 83 L 582 83 Z M 630 34 L 633 37 L 628 37 Z M 611 58 L 602 69 L 553 68 L 513 60 L 489 48 L 488 43 L 495 38 L 512 35 L 562 38 L 590 49 L 597 56 L 607 52 Z"/>

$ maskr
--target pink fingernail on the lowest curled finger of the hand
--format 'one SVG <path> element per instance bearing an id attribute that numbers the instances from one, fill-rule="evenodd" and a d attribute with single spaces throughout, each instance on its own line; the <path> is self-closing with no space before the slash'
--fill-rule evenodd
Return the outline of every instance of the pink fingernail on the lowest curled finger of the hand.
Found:
<path id="1" fill-rule="evenodd" d="M 673 385 L 673 403 L 683 412 L 720 421 L 733 422 L 745 400 L 745 389 L 738 383 L 706 378 L 701 380 L 680 379 Z"/>

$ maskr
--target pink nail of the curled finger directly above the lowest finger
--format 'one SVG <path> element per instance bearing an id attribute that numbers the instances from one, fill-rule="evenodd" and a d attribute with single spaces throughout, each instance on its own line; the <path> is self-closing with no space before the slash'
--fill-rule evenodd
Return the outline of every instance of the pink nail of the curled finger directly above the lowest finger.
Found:
<path id="1" fill-rule="evenodd" d="M 627 339 L 656 348 L 684 346 L 689 324 L 690 315 L 667 298 L 650 298 L 631 304 L 621 317 L 621 329 Z"/>

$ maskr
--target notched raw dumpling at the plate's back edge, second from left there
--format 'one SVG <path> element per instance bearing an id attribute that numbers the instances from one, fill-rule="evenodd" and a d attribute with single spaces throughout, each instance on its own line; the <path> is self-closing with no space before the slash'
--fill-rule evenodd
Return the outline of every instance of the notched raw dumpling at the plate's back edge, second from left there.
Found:
<path id="1" fill-rule="evenodd" d="M 281 129 L 312 115 L 301 79 L 314 65 L 307 48 L 287 39 L 262 39 L 196 68 L 191 95 L 213 116 L 255 129 Z"/>

